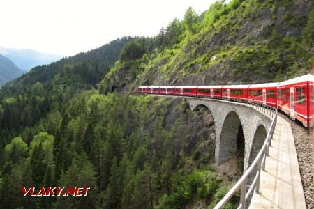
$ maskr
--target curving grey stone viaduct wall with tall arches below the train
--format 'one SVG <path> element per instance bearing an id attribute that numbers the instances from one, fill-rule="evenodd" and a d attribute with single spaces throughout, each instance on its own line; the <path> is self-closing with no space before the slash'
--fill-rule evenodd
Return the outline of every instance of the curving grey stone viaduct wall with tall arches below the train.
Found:
<path id="1" fill-rule="evenodd" d="M 186 98 L 186 101 L 192 111 L 198 107 L 207 107 L 211 111 L 216 128 L 216 165 L 230 160 L 237 153 L 239 143 L 243 143 L 246 171 L 267 137 L 271 117 L 251 104 L 208 98 Z M 244 142 L 239 141 L 239 134 L 242 133 Z"/>

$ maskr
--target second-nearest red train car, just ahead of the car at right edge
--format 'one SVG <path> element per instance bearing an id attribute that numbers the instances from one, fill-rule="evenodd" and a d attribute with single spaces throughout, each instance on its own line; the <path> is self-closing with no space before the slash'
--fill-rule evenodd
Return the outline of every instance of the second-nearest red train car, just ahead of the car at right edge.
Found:
<path id="1" fill-rule="evenodd" d="M 254 84 L 248 87 L 248 102 L 277 108 L 277 86 L 279 83 Z"/>

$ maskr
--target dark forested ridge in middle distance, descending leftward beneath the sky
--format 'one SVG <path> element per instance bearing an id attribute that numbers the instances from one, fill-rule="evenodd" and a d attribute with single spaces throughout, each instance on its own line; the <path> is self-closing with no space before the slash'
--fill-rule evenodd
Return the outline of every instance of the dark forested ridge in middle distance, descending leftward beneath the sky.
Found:
<path id="1" fill-rule="evenodd" d="M 82 88 L 85 84 L 94 86 L 110 70 L 117 59 L 121 49 L 127 42 L 133 40 L 124 37 L 113 40 L 107 45 L 89 52 L 82 52 L 75 56 L 63 58 L 50 65 L 37 66 L 27 74 L 8 84 L 10 91 L 23 91 L 36 82 L 58 84 L 59 87 L 75 86 Z"/>

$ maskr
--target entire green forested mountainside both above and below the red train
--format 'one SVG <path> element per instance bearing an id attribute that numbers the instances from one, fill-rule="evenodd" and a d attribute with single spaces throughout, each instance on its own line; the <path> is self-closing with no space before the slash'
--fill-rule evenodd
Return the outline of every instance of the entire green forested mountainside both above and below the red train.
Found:
<path id="1" fill-rule="evenodd" d="M 215 171 L 208 113 L 114 90 L 304 74 L 313 21 L 310 0 L 216 1 L 201 15 L 188 8 L 156 37 L 33 68 L 0 91 L 0 208 L 212 208 L 234 179 Z M 33 197 L 20 188 L 55 185 L 91 190 Z"/>

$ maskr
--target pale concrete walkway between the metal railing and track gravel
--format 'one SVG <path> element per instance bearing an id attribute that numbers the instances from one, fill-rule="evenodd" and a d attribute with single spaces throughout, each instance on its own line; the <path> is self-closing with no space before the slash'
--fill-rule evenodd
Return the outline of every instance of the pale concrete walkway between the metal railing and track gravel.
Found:
<path id="1" fill-rule="evenodd" d="M 306 208 L 291 126 L 279 116 L 260 192 L 253 194 L 249 208 Z"/>

